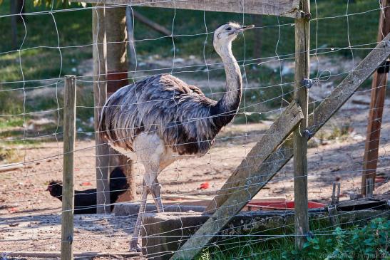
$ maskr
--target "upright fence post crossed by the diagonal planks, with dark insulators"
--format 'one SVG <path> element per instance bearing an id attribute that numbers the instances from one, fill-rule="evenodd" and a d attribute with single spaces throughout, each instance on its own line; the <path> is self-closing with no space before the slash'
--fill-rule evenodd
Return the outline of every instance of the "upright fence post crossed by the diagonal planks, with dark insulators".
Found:
<path id="1" fill-rule="evenodd" d="M 295 19 L 295 84 L 294 100 L 302 108 L 304 119 L 294 130 L 294 202 L 295 202 L 295 246 L 302 249 L 309 232 L 307 214 L 307 128 L 308 95 L 302 80 L 309 78 L 309 0 L 302 0 L 301 10 L 305 18 Z"/>

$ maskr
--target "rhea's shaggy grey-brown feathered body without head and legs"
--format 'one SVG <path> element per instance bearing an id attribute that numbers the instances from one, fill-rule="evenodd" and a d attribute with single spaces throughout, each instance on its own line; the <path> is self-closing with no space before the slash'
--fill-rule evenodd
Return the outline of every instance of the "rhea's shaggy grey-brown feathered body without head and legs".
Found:
<path id="1" fill-rule="evenodd" d="M 235 93 L 227 107 L 170 74 L 151 76 L 108 98 L 101 112 L 101 136 L 114 147 L 134 152 L 135 137 L 155 133 L 179 155 L 204 155 L 234 118 L 240 97 Z"/>

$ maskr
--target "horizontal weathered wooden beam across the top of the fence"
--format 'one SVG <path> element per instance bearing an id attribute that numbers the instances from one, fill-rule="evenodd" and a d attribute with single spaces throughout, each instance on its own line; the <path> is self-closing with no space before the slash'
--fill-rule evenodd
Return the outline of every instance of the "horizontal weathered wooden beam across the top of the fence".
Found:
<path id="1" fill-rule="evenodd" d="M 121 4 L 131 6 L 150 6 L 170 9 L 189 9 L 200 11 L 223 11 L 240 14 L 265 14 L 302 18 L 299 0 L 71 0 L 91 4 Z"/>

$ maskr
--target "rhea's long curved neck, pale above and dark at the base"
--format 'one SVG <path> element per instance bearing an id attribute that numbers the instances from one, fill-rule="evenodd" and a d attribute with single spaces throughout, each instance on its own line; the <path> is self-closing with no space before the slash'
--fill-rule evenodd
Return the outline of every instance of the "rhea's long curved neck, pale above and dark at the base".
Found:
<path id="1" fill-rule="evenodd" d="M 240 66 L 233 56 L 232 47 L 220 48 L 217 53 L 221 56 L 226 73 L 226 91 L 215 105 L 212 116 L 217 127 L 227 125 L 235 117 L 241 102 L 242 77 Z"/>

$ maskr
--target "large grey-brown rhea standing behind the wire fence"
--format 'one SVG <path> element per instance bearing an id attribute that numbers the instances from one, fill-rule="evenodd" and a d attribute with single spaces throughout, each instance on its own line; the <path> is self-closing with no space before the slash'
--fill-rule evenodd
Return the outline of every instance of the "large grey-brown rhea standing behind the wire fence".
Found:
<path id="1" fill-rule="evenodd" d="M 120 88 L 103 106 L 100 135 L 113 149 L 145 167 L 140 209 L 130 250 L 140 250 L 138 236 L 148 193 L 163 212 L 157 177 L 180 158 L 202 156 L 215 135 L 235 117 L 241 101 L 242 77 L 232 54 L 232 41 L 250 26 L 223 24 L 215 30 L 212 45 L 222 58 L 226 92 L 218 101 L 170 74 L 144 78 Z"/>

